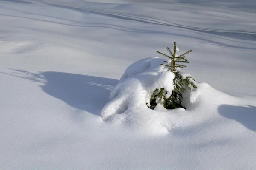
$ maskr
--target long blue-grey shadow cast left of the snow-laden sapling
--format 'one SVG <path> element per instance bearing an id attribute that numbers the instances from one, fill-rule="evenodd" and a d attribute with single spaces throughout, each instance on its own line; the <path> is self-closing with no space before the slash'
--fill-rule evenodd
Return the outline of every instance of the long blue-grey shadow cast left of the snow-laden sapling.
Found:
<path id="1" fill-rule="evenodd" d="M 36 74 L 25 70 L 11 70 L 14 72 L 4 74 L 44 83 L 40 87 L 45 93 L 64 101 L 73 108 L 98 116 L 105 103 L 108 102 L 110 90 L 119 82 L 116 79 L 82 74 L 54 71 Z"/>

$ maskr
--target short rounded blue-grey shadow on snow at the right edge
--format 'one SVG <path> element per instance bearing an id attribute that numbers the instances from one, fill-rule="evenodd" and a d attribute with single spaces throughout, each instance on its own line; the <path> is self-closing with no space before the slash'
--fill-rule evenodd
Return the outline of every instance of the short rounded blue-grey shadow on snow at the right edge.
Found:
<path id="1" fill-rule="evenodd" d="M 248 105 L 248 107 L 221 105 L 218 107 L 221 116 L 233 119 L 244 127 L 256 132 L 256 107 Z"/>

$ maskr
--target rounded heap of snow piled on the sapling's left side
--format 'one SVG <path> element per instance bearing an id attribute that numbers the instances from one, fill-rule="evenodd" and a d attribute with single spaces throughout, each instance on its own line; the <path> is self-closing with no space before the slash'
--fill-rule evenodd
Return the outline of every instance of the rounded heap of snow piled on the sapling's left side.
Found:
<path id="1" fill-rule="evenodd" d="M 123 113 L 113 116 L 113 119 L 138 123 L 140 121 L 138 117 L 142 118 L 144 113 L 152 112 L 146 103 L 149 103 L 155 89 L 164 88 L 168 91 L 166 98 L 169 98 L 174 89 L 174 74 L 167 71 L 167 67 L 161 65 L 163 61 L 163 59 L 152 57 L 130 65 L 120 78 L 120 82 L 111 90 L 110 101 L 102 109 L 102 119 L 106 121 L 113 115 Z M 155 111 L 146 117 L 155 117 L 157 114 Z M 162 119 L 157 119 L 157 121 L 164 119 L 166 119 L 165 116 Z M 156 123 L 159 124 L 160 122 Z"/>

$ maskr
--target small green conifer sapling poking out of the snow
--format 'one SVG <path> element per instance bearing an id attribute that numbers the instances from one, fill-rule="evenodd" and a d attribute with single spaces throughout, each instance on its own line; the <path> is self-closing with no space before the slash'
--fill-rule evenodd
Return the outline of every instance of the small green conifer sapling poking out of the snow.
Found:
<path id="1" fill-rule="evenodd" d="M 159 51 L 157 51 L 157 53 L 170 59 L 169 61 L 164 61 L 164 64 L 161 65 L 168 67 L 168 71 L 174 73 L 174 90 L 172 91 L 171 96 L 166 99 L 164 94 L 166 94 L 167 91 L 164 88 L 161 88 L 160 91 L 159 89 L 156 89 L 150 98 L 149 108 L 151 109 L 154 109 L 157 103 L 161 103 L 166 109 L 184 108 L 181 105 L 181 101 L 183 99 L 182 94 L 186 92 L 187 89 L 192 90 L 192 88 L 197 88 L 195 79 L 190 74 L 185 74 L 180 71 L 180 68 L 186 67 L 184 63 L 189 63 L 185 55 L 192 52 L 192 50 L 189 50 L 181 55 L 177 55 L 177 45 L 176 42 L 174 42 L 173 52 L 169 47 L 167 47 L 167 51 L 170 55 L 163 54 Z"/>

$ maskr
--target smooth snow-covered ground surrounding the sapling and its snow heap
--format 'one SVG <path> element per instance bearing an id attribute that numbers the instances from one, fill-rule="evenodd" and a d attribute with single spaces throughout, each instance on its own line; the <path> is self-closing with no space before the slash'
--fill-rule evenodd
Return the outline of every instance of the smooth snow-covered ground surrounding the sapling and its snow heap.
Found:
<path id="1" fill-rule="evenodd" d="M 256 169 L 255 18 L 255 0 L 0 0 L 0 169 Z M 125 69 L 173 42 L 208 84 L 191 109 L 103 121 Z"/>

